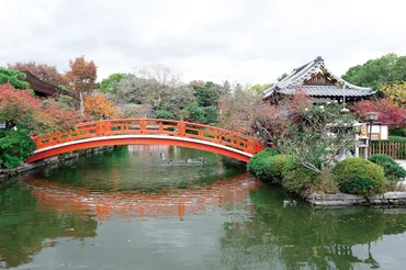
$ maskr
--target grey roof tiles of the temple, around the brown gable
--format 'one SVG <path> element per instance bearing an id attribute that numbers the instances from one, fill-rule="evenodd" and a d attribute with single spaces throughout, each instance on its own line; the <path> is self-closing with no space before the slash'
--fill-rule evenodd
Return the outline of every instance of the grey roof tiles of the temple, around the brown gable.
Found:
<path id="1" fill-rule="evenodd" d="M 331 79 L 329 85 L 306 85 L 304 82 L 311 79 L 314 75 L 322 71 L 325 76 L 328 76 Z M 263 91 L 263 99 L 267 99 L 275 93 L 292 94 L 297 89 L 303 89 L 311 97 L 342 97 L 343 89 L 342 86 L 346 86 L 346 95 L 347 97 L 370 97 L 374 94 L 374 91 L 371 88 L 357 87 L 351 85 L 340 77 L 334 75 L 330 70 L 325 67 L 324 60 L 320 56 L 316 59 L 295 68 L 290 76 L 279 81 L 275 86 Z"/>

